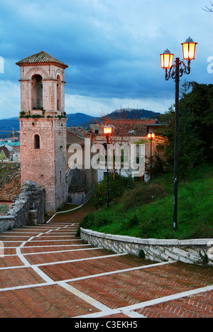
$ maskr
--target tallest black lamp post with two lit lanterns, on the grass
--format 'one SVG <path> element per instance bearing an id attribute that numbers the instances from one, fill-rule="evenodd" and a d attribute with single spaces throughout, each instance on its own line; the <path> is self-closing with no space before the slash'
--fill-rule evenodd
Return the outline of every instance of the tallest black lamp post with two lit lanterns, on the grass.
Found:
<path id="1" fill-rule="evenodd" d="M 178 118 L 179 118 L 179 82 L 182 74 L 190 74 L 190 62 L 195 60 L 196 45 L 192 38 L 187 38 L 185 43 L 182 43 L 183 59 L 187 60 L 187 65 L 184 61 L 180 61 L 179 57 L 175 59 L 173 65 L 173 54 L 167 49 L 160 54 L 161 67 L 165 70 L 165 80 L 175 79 L 175 151 L 174 151 L 174 202 L 173 202 L 173 228 L 178 226 Z"/>

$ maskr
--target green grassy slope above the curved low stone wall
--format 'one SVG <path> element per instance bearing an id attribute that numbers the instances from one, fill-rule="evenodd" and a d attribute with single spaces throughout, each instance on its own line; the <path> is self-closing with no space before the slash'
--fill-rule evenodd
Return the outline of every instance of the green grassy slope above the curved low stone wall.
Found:
<path id="1" fill-rule="evenodd" d="M 178 228 L 173 229 L 173 175 L 129 189 L 119 201 L 84 217 L 81 227 L 139 238 L 213 238 L 213 166 L 190 171 L 178 184 Z"/>

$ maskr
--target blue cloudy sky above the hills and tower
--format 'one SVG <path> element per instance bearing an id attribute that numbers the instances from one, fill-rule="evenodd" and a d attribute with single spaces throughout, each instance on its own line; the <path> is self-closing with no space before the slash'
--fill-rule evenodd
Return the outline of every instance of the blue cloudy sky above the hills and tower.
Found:
<path id="1" fill-rule="evenodd" d="M 92 116 L 120 108 L 164 113 L 175 83 L 160 53 L 182 60 L 197 45 L 181 82 L 213 83 L 213 13 L 209 0 L 0 0 L 0 118 L 18 116 L 18 60 L 40 50 L 65 62 L 65 111 Z M 181 83 L 180 83 L 181 84 Z"/>

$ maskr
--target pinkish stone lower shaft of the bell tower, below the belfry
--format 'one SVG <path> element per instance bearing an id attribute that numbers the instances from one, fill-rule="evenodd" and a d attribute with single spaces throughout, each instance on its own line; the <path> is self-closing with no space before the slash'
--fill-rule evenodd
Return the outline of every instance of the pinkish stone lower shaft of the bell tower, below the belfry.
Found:
<path id="1" fill-rule="evenodd" d="M 53 214 L 67 199 L 67 118 L 19 118 L 21 184 L 31 179 L 45 188 L 46 212 Z M 35 149 L 35 135 L 40 149 Z"/>

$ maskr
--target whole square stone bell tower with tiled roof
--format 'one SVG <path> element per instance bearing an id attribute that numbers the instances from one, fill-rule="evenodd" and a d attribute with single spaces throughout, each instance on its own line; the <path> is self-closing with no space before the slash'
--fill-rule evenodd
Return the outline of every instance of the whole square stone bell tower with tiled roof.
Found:
<path id="1" fill-rule="evenodd" d="M 66 203 L 65 65 L 38 52 L 20 67 L 21 184 L 33 180 L 45 189 L 47 214 Z"/>

